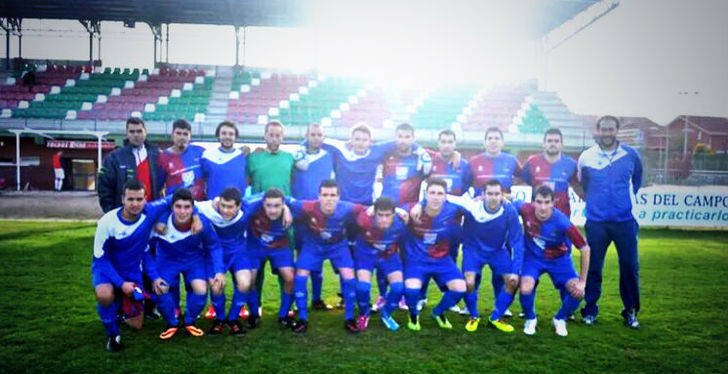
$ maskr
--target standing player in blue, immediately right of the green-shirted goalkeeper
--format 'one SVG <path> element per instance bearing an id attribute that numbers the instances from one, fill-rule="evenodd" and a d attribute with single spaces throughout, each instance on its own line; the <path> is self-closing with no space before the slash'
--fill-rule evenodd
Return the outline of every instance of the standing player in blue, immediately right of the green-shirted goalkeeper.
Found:
<path id="1" fill-rule="evenodd" d="M 306 144 L 301 145 L 294 159 L 296 168 L 293 172 L 293 197 L 299 200 L 315 200 L 318 198 L 318 187 L 326 179 L 334 178 L 334 154 L 323 149 L 324 130 L 318 123 L 312 123 L 306 130 Z M 296 230 L 296 249 L 301 250 L 302 228 Z M 314 310 L 330 310 L 332 307 L 321 298 L 323 274 L 311 273 L 311 302 Z"/>

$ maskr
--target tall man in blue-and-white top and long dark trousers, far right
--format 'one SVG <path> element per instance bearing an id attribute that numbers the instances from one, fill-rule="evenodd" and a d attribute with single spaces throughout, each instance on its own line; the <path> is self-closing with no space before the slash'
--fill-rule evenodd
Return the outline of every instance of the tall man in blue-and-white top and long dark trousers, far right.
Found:
<path id="1" fill-rule="evenodd" d="M 579 180 L 586 192 L 586 237 L 594 249 L 587 278 L 584 323 L 593 325 L 599 313 L 602 270 L 609 243 L 619 256 L 619 293 L 622 318 L 627 327 L 638 328 L 640 310 L 639 226 L 632 216 L 631 193 L 642 184 L 642 161 L 631 147 L 617 141 L 619 120 L 604 116 L 597 121 L 597 144 L 579 157 Z M 630 187 L 632 191 L 630 192 Z"/>

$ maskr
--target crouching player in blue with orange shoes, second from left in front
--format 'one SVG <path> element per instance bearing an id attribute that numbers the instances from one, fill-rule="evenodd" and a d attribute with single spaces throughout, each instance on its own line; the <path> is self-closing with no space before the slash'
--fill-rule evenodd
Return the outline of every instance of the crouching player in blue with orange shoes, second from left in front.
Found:
<path id="1" fill-rule="evenodd" d="M 190 285 L 187 294 L 187 312 L 184 318 L 185 330 L 192 336 L 202 336 L 204 332 L 195 326 L 195 320 L 207 302 L 207 269 L 205 259 L 212 261 L 215 274 L 211 285 L 213 293 L 220 293 L 225 285 L 222 248 L 210 221 L 200 217 L 202 231 L 193 233 L 192 211 L 194 199 L 192 192 L 180 188 L 172 195 L 173 214 L 167 219 L 167 230 L 155 234 L 157 239 L 156 258 L 145 257 L 145 270 L 154 280 L 154 291 L 159 297 L 158 307 L 168 326 L 160 334 L 160 339 L 171 339 L 179 329 L 180 323 L 175 315 L 174 300 L 169 288 L 179 282 L 183 274 Z"/>

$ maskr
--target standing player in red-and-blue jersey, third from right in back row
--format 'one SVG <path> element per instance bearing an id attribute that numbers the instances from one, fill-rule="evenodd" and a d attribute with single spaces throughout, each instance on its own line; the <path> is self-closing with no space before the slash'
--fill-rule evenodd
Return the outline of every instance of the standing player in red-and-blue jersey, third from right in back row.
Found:
<path id="1" fill-rule="evenodd" d="M 470 158 L 470 171 L 473 176 L 472 186 L 475 189 L 475 196 L 482 193 L 483 186 L 491 179 L 497 179 L 503 186 L 503 194 L 508 197 L 513 185 L 513 177 L 521 173 L 521 165 L 516 156 L 503 152 L 503 132 L 497 127 L 489 127 L 485 130 L 485 152 Z M 476 279 L 480 284 L 480 276 Z M 493 275 L 491 278 L 493 291 L 497 292 L 503 287 L 501 277 Z M 497 294 L 494 297 L 498 297 Z M 505 316 L 511 315 L 510 310 Z"/>

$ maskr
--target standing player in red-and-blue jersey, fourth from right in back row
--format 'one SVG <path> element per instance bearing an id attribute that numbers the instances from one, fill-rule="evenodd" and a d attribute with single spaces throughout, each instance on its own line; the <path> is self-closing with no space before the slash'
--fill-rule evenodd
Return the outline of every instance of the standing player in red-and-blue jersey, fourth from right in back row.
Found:
<path id="1" fill-rule="evenodd" d="M 447 193 L 460 196 L 470 188 L 473 177 L 470 171 L 470 164 L 460 157 L 455 147 L 455 132 L 449 129 L 440 131 L 437 136 L 438 152 L 430 152 L 430 156 L 432 157 L 430 177 L 444 180 L 447 183 Z M 423 189 L 424 186 L 425 184 L 423 183 Z M 455 217 L 455 222 L 458 225 L 462 224 L 462 217 Z M 462 232 L 459 232 L 450 245 L 450 256 L 455 261 L 458 258 L 458 250 L 461 242 Z M 420 302 L 417 304 L 417 307 L 420 309 L 427 304 L 427 288 L 429 283 L 430 280 L 425 279 L 422 285 L 422 295 L 420 295 Z M 453 310 L 456 309 L 459 308 L 457 306 L 453 307 Z"/>

